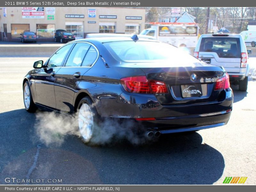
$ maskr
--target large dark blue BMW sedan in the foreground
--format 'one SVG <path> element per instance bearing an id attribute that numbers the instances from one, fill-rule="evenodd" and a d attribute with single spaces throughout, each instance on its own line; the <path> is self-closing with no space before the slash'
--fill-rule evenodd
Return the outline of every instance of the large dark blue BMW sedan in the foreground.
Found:
<path id="1" fill-rule="evenodd" d="M 129 119 L 158 137 L 227 124 L 232 110 L 224 68 L 136 35 L 76 40 L 34 68 L 23 81 L 26 110 L 77 112 L 84 142 L 102 117 Z"/>

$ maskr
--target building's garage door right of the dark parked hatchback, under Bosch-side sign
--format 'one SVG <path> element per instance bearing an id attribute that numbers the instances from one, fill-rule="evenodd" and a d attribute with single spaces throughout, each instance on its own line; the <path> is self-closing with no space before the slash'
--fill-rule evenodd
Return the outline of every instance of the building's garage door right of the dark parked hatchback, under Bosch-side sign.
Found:
<path id="1" fill-rule="evenodd" d="M 73 33 L 76 36 L 76 39 L 84 38 L 84 23 L 78 21 L 67 21 L 66 31 Z"/>

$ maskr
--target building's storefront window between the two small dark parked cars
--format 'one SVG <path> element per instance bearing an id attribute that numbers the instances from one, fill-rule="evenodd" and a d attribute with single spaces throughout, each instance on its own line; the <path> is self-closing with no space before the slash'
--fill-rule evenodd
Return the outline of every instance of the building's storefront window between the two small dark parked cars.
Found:
<path id="1" fill-rule="evenodd" d="M 55 33 L 55 24 L 36 24 L 37 38 L 52 38 Z"/>

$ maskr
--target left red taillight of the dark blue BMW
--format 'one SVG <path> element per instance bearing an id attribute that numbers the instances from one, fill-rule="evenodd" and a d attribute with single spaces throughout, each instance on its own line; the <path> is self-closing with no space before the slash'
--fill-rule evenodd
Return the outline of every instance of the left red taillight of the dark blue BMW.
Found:
<path id="1" fill-rule="evenodd" d="M 132 93 L 168 93 L 164 82 L 149 80 L 146 76 L 124 77 L 120 79 L 124 90 Z"/>

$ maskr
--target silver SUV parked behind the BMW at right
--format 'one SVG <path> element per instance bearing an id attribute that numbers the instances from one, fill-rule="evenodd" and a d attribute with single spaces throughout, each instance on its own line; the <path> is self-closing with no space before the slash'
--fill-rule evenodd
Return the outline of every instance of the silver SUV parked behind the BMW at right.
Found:
<path id="1" fill-rule="evenodd" d="M 238 84 L 240 91 L 247 91 L 248 54 L 244 39 L 238 34 L 201 35 L 196 44 L 194 56 L 205 63 L 223 66 L 230 83 Z"/>

